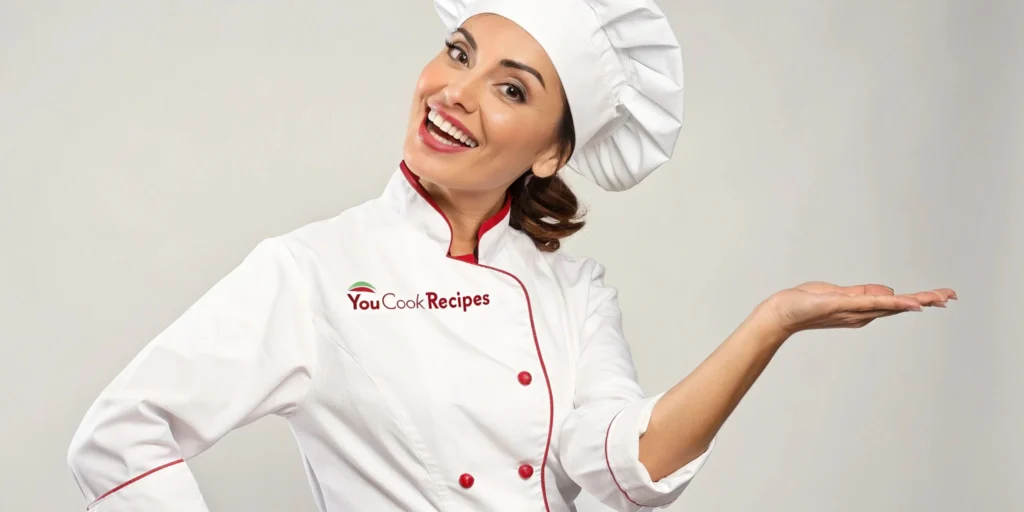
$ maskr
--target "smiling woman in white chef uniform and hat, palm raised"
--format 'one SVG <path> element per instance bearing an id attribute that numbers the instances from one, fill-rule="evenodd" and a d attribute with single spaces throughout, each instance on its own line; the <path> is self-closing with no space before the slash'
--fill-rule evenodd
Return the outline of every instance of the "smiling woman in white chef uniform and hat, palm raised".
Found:
<path id="1" fill-rule="evenodd" d="M 558 171 L 609 190 L 673 152 L 679 45 L 650 0 L 437 0 L 383 194 L 256 245 L 90 408 L 69 460 L 89 509 L 206 511 L 186 461 L 287 418 L 321 511 L 618 511 L 675 500 L 794 333 L 955 298 L 779 292 L 645 397 Z"/>

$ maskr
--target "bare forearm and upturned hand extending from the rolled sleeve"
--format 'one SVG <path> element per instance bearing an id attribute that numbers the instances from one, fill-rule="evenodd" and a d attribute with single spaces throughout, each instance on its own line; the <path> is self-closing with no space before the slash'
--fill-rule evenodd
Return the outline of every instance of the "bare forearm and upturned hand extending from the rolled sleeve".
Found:
<path id="1" fill-rule="evenodd" d="M 955 299 L 940 289 L 895 295 L 880 285 L 807 283 L 784 290 L 754 312 L 690 375 L 666 392 L 640 438 L 640 462 L 654 481 L 705 453 L 715 434 L 793 334 L 859 328 L 871 321 Z"/>

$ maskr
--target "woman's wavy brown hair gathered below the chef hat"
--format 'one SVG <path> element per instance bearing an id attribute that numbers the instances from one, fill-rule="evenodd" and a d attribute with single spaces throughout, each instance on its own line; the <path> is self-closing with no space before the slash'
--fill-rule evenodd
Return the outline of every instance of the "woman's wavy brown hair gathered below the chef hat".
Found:
<path id="1" fill-rule="evenodd" d="M 575 127 L 568 101 L 558 125 L 558 157 L 565 162 L 575 148 Z M 561 240 L 583 228 L 580 201 L 558 174 L 539 178 L 526 171 L 509 186 L 512 211 L 509 225 L 526 233 L 544 252 L 555 252 Z"/>

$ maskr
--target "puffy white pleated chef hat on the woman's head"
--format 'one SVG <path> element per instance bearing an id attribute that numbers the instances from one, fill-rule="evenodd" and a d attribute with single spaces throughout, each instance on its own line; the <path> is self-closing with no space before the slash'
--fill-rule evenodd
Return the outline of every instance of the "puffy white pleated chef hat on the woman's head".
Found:
<path id="1" fill-rule="evenodd" d="M 529 33 L 558 71 L 575 125 L 567 165 L 625 190 L 672 156 L 683 119 L 683 62 L 651 0 L 435 0 L 450 31 L 480 13 Z"/>

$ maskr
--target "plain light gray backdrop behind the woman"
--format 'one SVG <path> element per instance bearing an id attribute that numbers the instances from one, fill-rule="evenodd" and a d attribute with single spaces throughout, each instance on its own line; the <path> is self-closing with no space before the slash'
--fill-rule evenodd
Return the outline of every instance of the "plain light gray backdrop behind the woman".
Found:
<path id="1" fill-rule="evenodd" d="M 624 194 L 570 176 L 567 244 L 649 393 L 804 281 L 962 299 L 796 336 L 670 510 L 1021 510 L 1022 3 L 662 5 L 678 153 Z M 0 509 L 82 510 L 100 389 L 257 241 L 380 194 L 443 37 L 428 0 L 0 0 Z M 314 510 L 280 420 L 190 464 L 215 512 Z"/>

